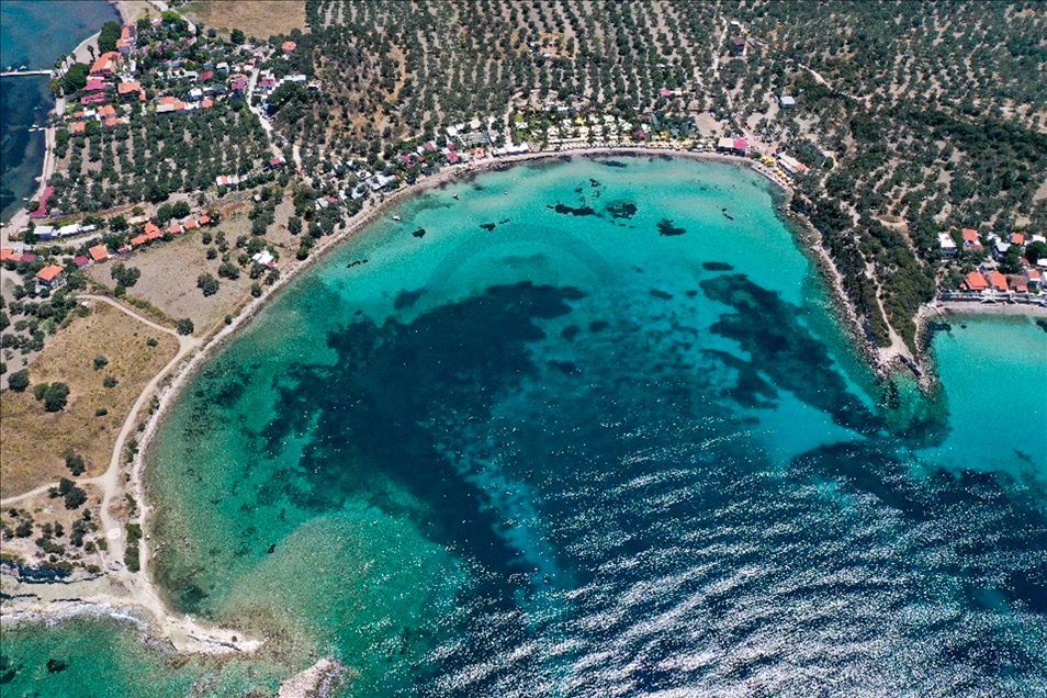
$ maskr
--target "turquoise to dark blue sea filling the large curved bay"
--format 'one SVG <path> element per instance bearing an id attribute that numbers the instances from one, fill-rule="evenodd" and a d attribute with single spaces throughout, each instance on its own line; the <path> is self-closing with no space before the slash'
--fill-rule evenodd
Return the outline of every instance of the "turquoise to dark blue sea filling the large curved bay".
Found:
<path id="1" fill-rule="evenodd" d="M 267 651 L 176 669 L 110 628 L 98 663 L 225 682 L 204 695 L 325 655 L 353 696 L 1044 690 L 1043 485 L 1013 449 L 948 457 L 980 428 L 958 391 L 989 386 L 957 387 L 939 335 L 944 395 L 897 427 L 774 205 L 747 170 L 623 158 L 399 206 L 218 352 L 150 452 L 158 582 Z M 964 351 L 995 337 L 972 328 Z M 18 632 L 13 695 L 76 695 L 30 639 L 83 631 Z"/>

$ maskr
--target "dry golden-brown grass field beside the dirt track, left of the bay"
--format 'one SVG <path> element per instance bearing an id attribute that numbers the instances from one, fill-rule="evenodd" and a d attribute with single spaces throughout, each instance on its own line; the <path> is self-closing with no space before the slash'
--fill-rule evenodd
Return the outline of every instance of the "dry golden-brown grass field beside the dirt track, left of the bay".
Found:
<path id="1" fill-rule="evenodd" d="M 155 347 L 148 340 L 156 339 Z M 24 393 L 4 391 L 0 399 L 0 495 L 7 497 L 69 475 L 67 453 L 83 457 L 87 475 L 109 465 L 113 442 L 127 412 L 151 379 L 178 350 L 170 335 L 159 333 L 110 307 L 95 304 L 47 342 L 30 368 L 32 385 L 61 381 L 69 402 L 57 413 L 44 410 Z M 94 359 L 109 363 L 94 369 Z M 105 387 L 106 376 L 116 379 Z M 99 415 L 104 409 L 106 414 Z"/>

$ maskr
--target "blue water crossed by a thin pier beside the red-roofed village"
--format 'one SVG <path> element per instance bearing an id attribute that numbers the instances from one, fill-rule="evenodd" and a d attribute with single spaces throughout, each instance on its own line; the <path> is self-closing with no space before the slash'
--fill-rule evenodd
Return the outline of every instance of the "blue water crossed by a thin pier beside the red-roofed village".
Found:
<path id="1" fill-rule="evenodd" d="M 110 20 L 105 0 L 3 0 L 0 3 L 0 67 L 44 69 Z M 35 192 L 44 160 L 43 132 L 54 106 L 46 77 L 0 78 L 0 221 Z"/>

